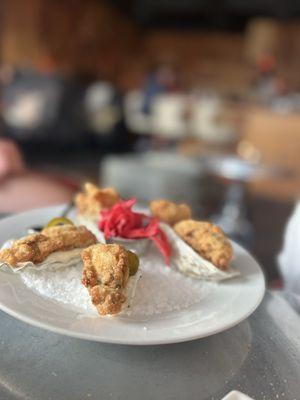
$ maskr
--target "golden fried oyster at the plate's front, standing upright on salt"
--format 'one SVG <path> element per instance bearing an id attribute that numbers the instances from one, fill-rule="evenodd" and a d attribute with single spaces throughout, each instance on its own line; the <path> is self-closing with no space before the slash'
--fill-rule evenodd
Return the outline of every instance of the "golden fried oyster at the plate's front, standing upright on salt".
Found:
<path id="1" fill-rule="evenodd" d="M 96 244 L 83 250 L 82 283 L 100 315 L 117 314 L 126 301 L 124 289 L 129 278 L 129 259 L 124 247 Z"/>

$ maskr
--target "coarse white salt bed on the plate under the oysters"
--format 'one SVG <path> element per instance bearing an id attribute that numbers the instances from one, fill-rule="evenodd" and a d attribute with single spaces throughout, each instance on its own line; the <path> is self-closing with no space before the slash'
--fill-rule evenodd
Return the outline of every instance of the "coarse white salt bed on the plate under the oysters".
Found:
<path id="1" fill-rule="evenodd" d="M 141 257 L 142 277 L 137 285 L 130 317 L 171 313 L 191 307 L 211 294 L 217 284 L 189 278 L 174 266 L 165 266 L 151 246 Z M 87 289 L 81 283 L 82 265 L 37 271 L 28 268 L 20 274 L 24 283 L 44 297 L 63 303 L 78 313 L 97 315 Z"/>

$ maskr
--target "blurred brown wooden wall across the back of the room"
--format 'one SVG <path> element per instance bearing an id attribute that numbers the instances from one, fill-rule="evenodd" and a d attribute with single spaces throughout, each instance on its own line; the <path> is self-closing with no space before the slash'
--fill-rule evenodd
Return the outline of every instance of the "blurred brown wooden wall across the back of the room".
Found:
<path id="1" fill-rule="evenodd" d="M 264 43 L 264 29 L 254 36 L 253 29 L 245 35 L 143 30 L 105 0 L 1 0 L 0 11 L 3 63 L 102 77 L 124 90 L 138 86 L 149 66 L 168 62 L 187 86 L 242 93 L 253 81 L 249 48 L 259 35 Z M 300 88 L 299 26 L 273 27 L 271 33 L 280 37 L 282 73 Z"/>

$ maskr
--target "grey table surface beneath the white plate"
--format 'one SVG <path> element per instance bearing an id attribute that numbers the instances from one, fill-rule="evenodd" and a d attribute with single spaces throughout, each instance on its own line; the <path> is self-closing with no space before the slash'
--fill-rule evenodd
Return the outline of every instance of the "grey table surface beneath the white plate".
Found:
<path id="1" fill-rule="evenodd" d="M 300 320 L 278 294 L 238 326 L 163 346 L 108 345 L 31 327 L 0 312 L 0 399 L 300 398 Z"/>

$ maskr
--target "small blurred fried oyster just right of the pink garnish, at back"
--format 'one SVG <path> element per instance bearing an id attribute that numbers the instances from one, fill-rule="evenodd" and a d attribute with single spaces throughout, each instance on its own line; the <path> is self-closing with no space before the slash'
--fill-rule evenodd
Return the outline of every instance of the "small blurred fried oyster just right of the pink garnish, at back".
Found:
<path id="1" fill-rule="evenodd" d="M 191 218 L 191 209 L 187 204 L 176 204 L 169 200 L 151 201 L 150 210 L 155 217 L 169 225 Z"/>

